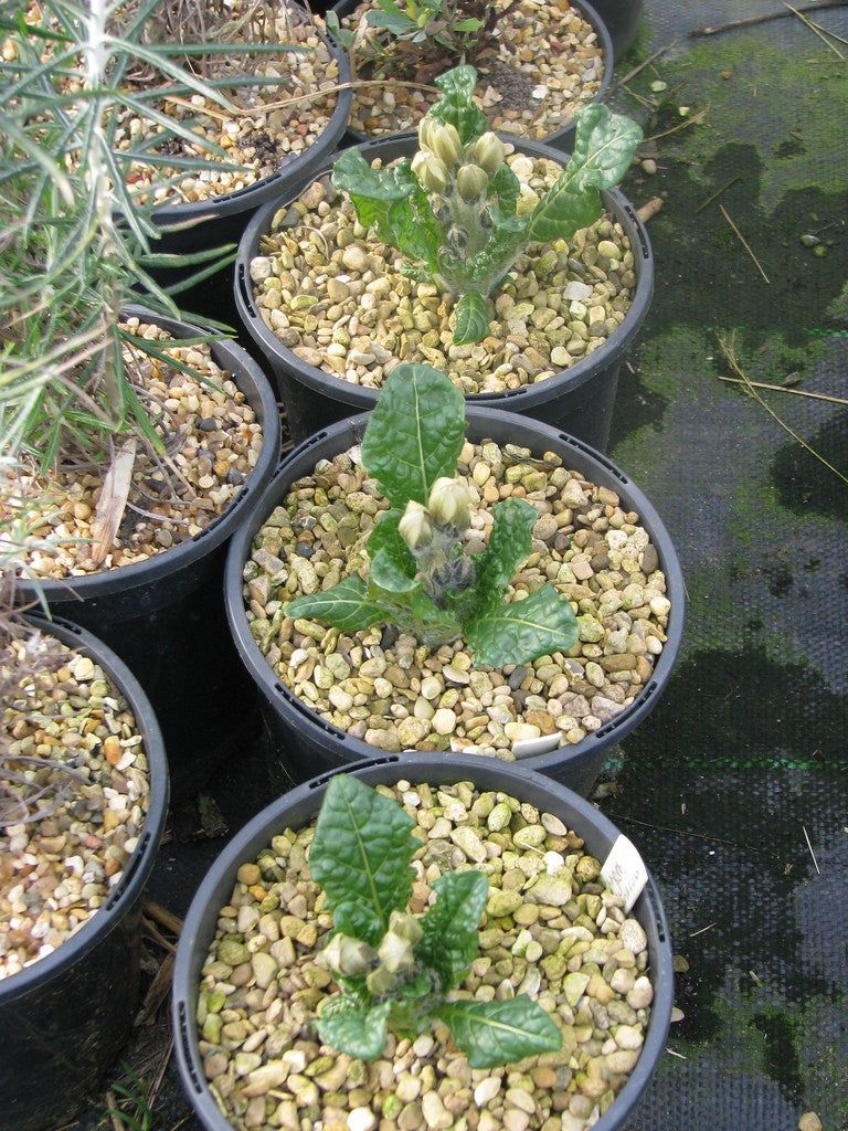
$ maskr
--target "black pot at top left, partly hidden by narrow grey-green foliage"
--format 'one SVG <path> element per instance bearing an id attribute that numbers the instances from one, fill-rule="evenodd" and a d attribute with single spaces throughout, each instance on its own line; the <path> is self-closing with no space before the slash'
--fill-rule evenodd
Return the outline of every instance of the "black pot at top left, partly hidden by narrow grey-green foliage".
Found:
<path id="1" fill-rule="evenodd" d="M 339 84 L 349 83 L 351 64 L 347 54 L 330 36 L 322 38 L 338 64 Z M 323 133 L 302 154 L 287 157 L 270 176 L 223 197 L 191 204 L 163 205 L 157 208 L 154 219 L 162 227 L 185 223 L 191 223 L 191 226 L 163 233 L 153 250 L 157 254 L 183 253 L 208 251 L 225 243 L 237 243 L 248 221 L 258 208 L 280 192 L 288 192 L 295 187 L 308 184 L 328 155 L 336 149 L 351 116 L 352 97 L 349 89 L 339 90 L 336 95 L 336 107 Z"/>

